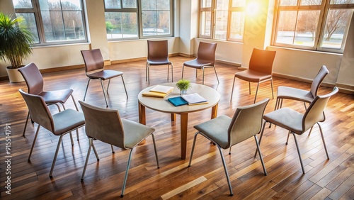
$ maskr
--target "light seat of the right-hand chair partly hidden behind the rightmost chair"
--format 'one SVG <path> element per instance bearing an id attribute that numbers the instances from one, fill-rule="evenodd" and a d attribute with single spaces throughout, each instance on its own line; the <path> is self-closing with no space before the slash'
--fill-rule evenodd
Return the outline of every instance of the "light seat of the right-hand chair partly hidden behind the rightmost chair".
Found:
<path id="1" fill-rule="evenodd" d="M 310 91 L 294 87 L 278 87 L 278 99 L 292 99 L 311 103 L 314 100 Z"/>

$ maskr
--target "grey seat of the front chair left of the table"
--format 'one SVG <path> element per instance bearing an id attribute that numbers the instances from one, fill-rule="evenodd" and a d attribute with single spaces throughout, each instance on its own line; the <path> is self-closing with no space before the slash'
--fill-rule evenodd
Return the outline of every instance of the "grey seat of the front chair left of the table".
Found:
<path id="1" fill-rule="evenodd" d="M 121 118 L 122 126 L 124 130 L 124 146 L 125 148 L 134 148 L 142 140 L 154 133 L 155 129 L 149 126 L 145 126 L 135 121 L 130 121 Z"/>

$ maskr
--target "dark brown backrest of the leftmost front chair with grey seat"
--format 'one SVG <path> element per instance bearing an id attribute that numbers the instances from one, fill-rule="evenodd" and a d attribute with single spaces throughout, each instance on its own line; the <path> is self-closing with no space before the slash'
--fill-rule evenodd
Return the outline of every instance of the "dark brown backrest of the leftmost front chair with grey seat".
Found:
<path id="1" fill-rule="evenodd" d="M 25 99 L 25 104 L 27 104 L 32 120 L 53 133 L 54 121 L 43 97 L 25 93 L 22 89 L 19 89 L 18 91 L 20 91 L 23 99 Z"/>

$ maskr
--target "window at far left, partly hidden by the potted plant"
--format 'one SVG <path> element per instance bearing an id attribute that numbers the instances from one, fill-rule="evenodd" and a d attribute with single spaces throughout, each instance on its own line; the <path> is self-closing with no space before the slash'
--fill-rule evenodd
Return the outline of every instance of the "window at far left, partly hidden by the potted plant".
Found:
<path id="1" fill-rule="evenodd" d="M 37 44 L 86 42 L 81 0 L 13 0 Z"/>

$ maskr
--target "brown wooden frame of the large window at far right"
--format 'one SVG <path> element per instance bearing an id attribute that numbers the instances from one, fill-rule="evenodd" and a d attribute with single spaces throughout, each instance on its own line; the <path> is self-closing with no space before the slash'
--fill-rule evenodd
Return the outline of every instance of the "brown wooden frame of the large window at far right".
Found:
<path id="1" fill-rule="evenodd" d="M 354 4 L 331 4 L 331 0 L 322 0 L 321 5 L 301 6 L 300 5 L 301 0 L 298 0 L 296 6 L 280 6 L 280 1 L 282 0 L 277 0 L 275 2 L 275 16 L 273 20 L 271 45 L 275 47 L 282 47 L 282 48 L 295 48 L 300 50 L 314 50 L 314 51 L 321 51 L 321 52 L 343 53 L 346 44 L 346 39 L 348 36 L 348 30 L 349 30 L 348 26 L 346 26 L 346 30 L 343 33 L 341 48 L 338 49 L 338 48 L 321 47 L 321 44 L 323 43 L 324 40 L 324 35 L 326 34 L 325 30 L 326 30 L 327 15 L 331 9 L 348 9 L 348 10 L 351 9 L 354 11 Z M 317 22 L 313 47 L 276 42 L 278 37 L 278 26 L 279 26 L 278 21 L 280 17 L 280 11 L 297 11 L 298 14 L 299 11 L 315 11 L 315 10 L 320 11 L 320 13 L 319 13 L 319 21 Z M 350 20 L 348 21 L 348 23 L 350 23 Z M 295 31 L 296 31 L 296 26 L 297 24 L 295 24 Z"/>

